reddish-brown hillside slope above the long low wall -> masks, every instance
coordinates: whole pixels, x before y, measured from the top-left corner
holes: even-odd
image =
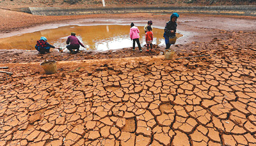
[[[218,5],[256,5],[256,0],[105,0],[106,6],[218,6]],[[34,7],[97,7],[101,0],[0,0],[0,8]]]

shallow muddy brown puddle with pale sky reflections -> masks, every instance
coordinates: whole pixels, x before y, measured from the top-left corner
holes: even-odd
[[[145,33],[143,26],[140,30],[140,43],[145,45]],[[129,36],[130,26],[108,25],[108,26],[63,26],[56,29],[45,29],[34,33],[20,34],[9,38],[0,39],[0,49],[21,49],[35,50],[36,41],[41,36],[45,36],[47,41],[55,47],[65,48],[67,51],[66,40],[70,32],[75,32],[77,38],[86,48],[81,50],[115,50],[118,48],[132,47],[132,41]],[[164,45],[163,29],[154,28],[153,44]],[[177,34],[181,37],[182,34]]]

